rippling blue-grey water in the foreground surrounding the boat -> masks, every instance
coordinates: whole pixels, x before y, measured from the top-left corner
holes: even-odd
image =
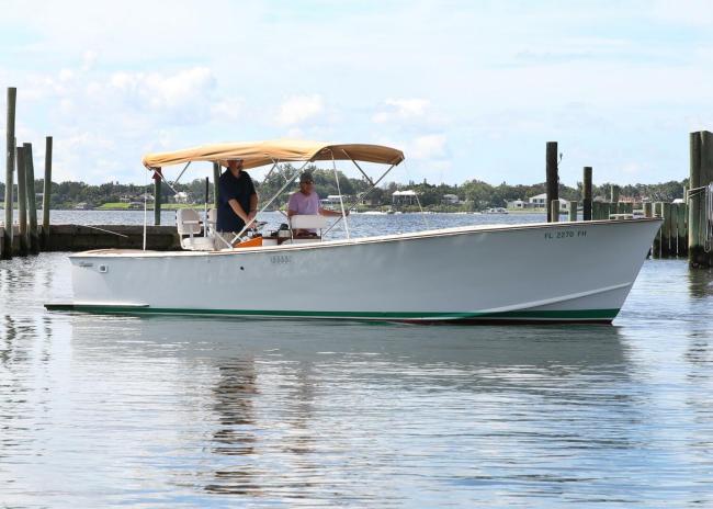
[[[0,262],[2,507],[713,506],[713,276],[683,261],[613,327],[42,307],[70,296],[63,253]]]

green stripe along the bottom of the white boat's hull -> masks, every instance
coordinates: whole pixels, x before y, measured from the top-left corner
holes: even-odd
[[[129,315],[202,315],[242,316],[262,318],[347,318],[361,320],[483,320],[483,321],[611,321],[619,309],[521,310],[501,313],[440,313],[440,312],[298,312],[254,309],[196,309],[136,306],[93,306],[88,304],[45,304],[48,310],[75,310],[98,314]]]

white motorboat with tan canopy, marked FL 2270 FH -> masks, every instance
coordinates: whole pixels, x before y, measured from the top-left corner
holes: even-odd
[[[145,165],[156,169],[241,158],[246,168],[254,168],[270,149],[268,162],[353,158],[393,167],[403,160],[398,150],[369,145],[278,142],[258,148],[199,147],[147,156]],[[47,308],[418,323],[611,323],[659,226],[660,219],[541,223],[302,244],[291,238],[281,245],[206,251],[87,251],[70,256],[73,301]]]

